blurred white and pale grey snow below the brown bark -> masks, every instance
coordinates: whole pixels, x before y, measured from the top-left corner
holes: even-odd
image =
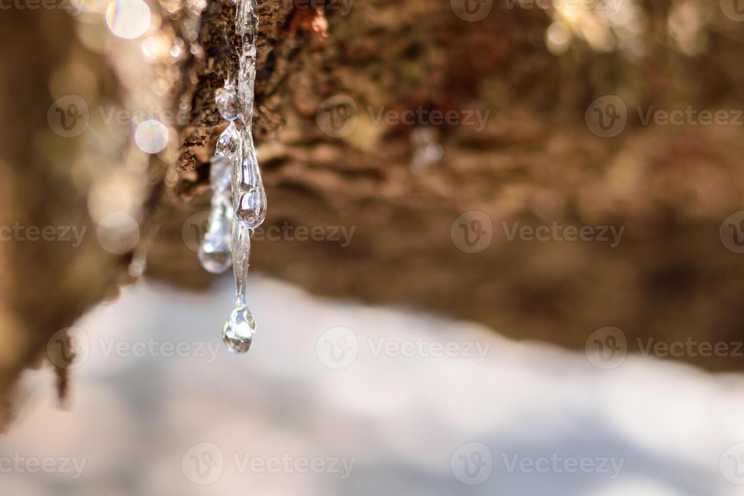
[[[472,323],[249,290],[242,356],[219,336],[230,277],[204,294],[139,283],[84,316],[68,408],[51,370],[25,376],[1,494],[744,494],[738,376],[600,370]]]

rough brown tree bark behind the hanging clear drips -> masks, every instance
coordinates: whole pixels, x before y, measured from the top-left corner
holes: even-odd
[[[346,12],[338,2],[315,9],[259,1],[254,120],[269,197],[265,227],[293,230],[276,241],[255,240],[251,270],[318,294],[434,309],[568,347],[582,348],[603,326],[623,329],[631,349],[637,337],[740,341],[744,255],[725,248],[719,226],[742,209],[742,127],[642,126],[635,106],[740,109],[741,23],[715,6],[700,7],[705,21],[690,36],[703,49],[695,54],[670,28],[676,4],[658,2],[642,10],[642,57],[597,51],[580,36],[557,56],[545,46],[557,14],[507,5],[494,2],[485,19],[466,22],[449,2],[356,0]],[[195,288],[212,280],[193,248],[206,219],[194,214],[208,206],[206,163],[223,126],[214,89],[235,63],[234,6],[210,12],[214,19],[202,22],[199,34],[204,57],[178,62],[183,80],[172,90],[173,106],[186,102],[196,117],[178,126],[182,146],[148,165],[150,187],[141,200],[145,244],[148,226],[163,221],[148,273]],[[154,14],[170,36],[179,33],[173,19],[183,16]],[[86,218],[89,184],[76,183],[68,167],[79,155],[77,142],[58,140],[45,122],[54,100],[49,81],[74,54],[93,72],[99,96],[121,87],[107,68],[111,61],[80,46],[75,23],[59,11],[14,11],[0,30],[7,52],[0,71],[4,225]],[[615,138],[597,137],[584,119],[603,94],[628,104],[628,126]],[[356,128],[333,137],[323,104],[339,95],[353,100]],[[420,126],[376,123],[381,107],[490,115],[481,131],[436,126],[443,157],[417,171],[411,162]],[[168,172],[173,168],[178,178]],[[156,208],[161,204],[164,210]],[[475,254],[461,251],[452,234],[455,219],[472,210],[485,213],[493,231],[490,245]],[[610,248],[600,241],[510,241],[502,225],[554,221],[625,229]],[[301,226],[354,231],[341,246],[300,241]],[[55,332],[131,280],[126,268],[135,252],[107,253],[92,233],[75,249],[0,244],[0,338],[7,344],[0,393],[7,396]],[[682,358],[711,369],[741,364],[730,356]]]

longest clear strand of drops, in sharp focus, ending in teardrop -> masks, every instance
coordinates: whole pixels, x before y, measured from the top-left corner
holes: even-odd
[[[235,274],[235,308],[222,327],[222,341],[228,349],[244,353],[251,347],[256,323],[246,302],[248,258],[251,254],[251,235],[266,217],[266,192],[258,170],[251,123],[253,117],[253,86],[256,78],[256,35],[258,10],[255,0],[237,0],[235,28],[241,37],[237,86],[230,81],[217,94],[217,108],[225,120],[240,119],[240,132],[234,122],[220,136],[218,153],[232,161],[232,257]],[[233,98],[234,96],[234,98]],[[237,114],[234,112],[237,106]],[[225,133],[228,133],[225,135]],[[236,133],[239,136],[236,136]],[[233,144],[237,144],[234,153]]]

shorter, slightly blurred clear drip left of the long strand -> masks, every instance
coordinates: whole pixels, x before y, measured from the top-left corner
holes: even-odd
[[[233,207],[230,161],[214,157],[209,176],[213,192],[212,209],[209,213],[209,227],[199,248],[199,262],[206,271],[222,274],[232,263],[230,245]]]

